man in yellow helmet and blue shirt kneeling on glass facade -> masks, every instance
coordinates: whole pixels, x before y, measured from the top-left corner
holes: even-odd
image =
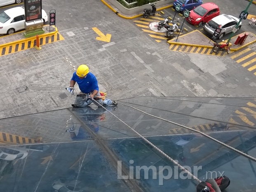
[[[76,96],[75,103],[72,104],[72,107],[85,107],[94,102],[94,96],[101,96],[99,93],[98,81],[92,73],[89,72],[87,65],[80,65],[76,72],[73,73],[73,77],[70,80],[70,89],[74,89],[75,83],[78,83],[80,94]],[[86,95],[90,94],[92,99],[88,101],[82,101]],[[97,102],[106,107],[108,105],[117,105],[117,101],[112,101],[111,99],[105,99],[104,101],[99,98]],[[94,102],[95,105],[101,107],[97,102]]]

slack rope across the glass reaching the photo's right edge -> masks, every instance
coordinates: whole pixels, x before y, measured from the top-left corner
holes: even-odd
[[[132,106],[130,106],[130,105],[126,105],[126,104],[123,104],[123,103],[122,103],[122,105],[125,105],[125,106],[130,107],[130,108],[134,108],[134,107],[132,107]],[[225,144],[225,143],[223,143],[223,142],[221,142],[221,141],[219,141],[219,140],[217,140],[217,139],[215,139],[215,138],[213,138],[213,137],[211,137],[211,136],[209,136],[209,135],[207,135],[207,134],[205,134],[205,133],[203,133],[203,132],[201,132],[201,131],[197,131],[196,129],[192,129],[192,128],[188,127],[188,126],[184,126],[184,125],[181,125],[181,124],[178,124],[178,123],[175,123],[175,122],[171,122],[171,121],[169,121],[169,120],[167,120],[167,119],[163,119],[163,118],[161,118],[161,117],[157,117],[157,116],[155,116],[155,115],[151,115],[151,114],[149,114],[149,113],[147,113],[147,112],[144,112],[144,111],[142,111],[142,110],[139,110],[139,109],[137,109],[137,108],[134,108],[134,109],[135,109],[135,110],[138,110],[138,111],[140,111],[140,112],[143,112],[143,113],[145,113],[145,114],[147,114],[147,115],[150,115],[150,116],[152,116],[152,117],[155,117],[155,118],[157,118],[157,119],[161,119],[161,120],[164,120],[164,121],[169,122],[169,123],[171,123],[171,124],[175,124],[175,125],[181,126],[181,127],[183,127],[183,128],[189,129],[189,130],[191,130],[191,131],[195,131],[195,132],[197,132],[197,133],[201,133],[203,136],[206,136],[206,137],[210,138],[211,140],[214,140],[214,141],[216,141],[217,143],[219,143],[219,144],[221,144],[221,145],[224,145],[225,147],[230,148],[231,150],[233,150],[233,151],[235,151],[235,152],[238,152],[238,153],[240,153],[241,155],[244,155],[245,157],[248,157],[249,159],[252,159],[252,160],[254,160],[254,161],[256,162],[256,158],[251,157],[250,155],[247,155],[246,153],[244,153],[244,152],[242,152],[242,151],[240,151],[240,150],[237,150],[237,149],[235,149],[235,148],[233,148],[233,147],[231,147],[231,146],[229,146],[229,145],[227,145],[227,144]]]

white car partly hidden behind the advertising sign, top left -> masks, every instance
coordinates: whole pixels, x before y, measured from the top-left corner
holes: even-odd
[[[42,9],[42,19],[48,21],[45,10]],[[17,30],[25,29],[24,7],[14,7],[0,13],[0,34],[12,34]]]

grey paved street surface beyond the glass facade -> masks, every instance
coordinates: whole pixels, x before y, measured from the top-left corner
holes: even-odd
[[[248,5],[247,1],[235,5],[232,0],[213,2],[221,12],[236,15],[242,9],[238,7]],[[101,91],[107,90],[108,97],[117,100],[134,96],[255,96],[254,73],[230,56],[170,51],[165,41],[156,42],[100,0],[42,3],[46,12],[56,9],[56,27],[65,40],[44,45],[40,51],[28,49],[1,56],[1,118],[70,107],[75,98],[64,87],[69,85],[73,68],[84,63],[98,78]],[[248,12],[256,15],[255,5]],[[244,23],[241,32],[250,28],[247,20]],[[92,28],[111,34],[110,42],[96,40]],[[256,46],[249,48],[255,51]]]

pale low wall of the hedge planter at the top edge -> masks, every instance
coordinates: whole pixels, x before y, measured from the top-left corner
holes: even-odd
[[[131,9],[127,9],[126,7],[124,7],[122,4],[120,4],[120,2],[118,2],[117,0],[108,0],[109,2],[111,2],[113,5],[115,5],[115,7],[120,11],[120,14],[126,14],[126,15],[132,15],[132,14],[142,14],[143,13],[143,9],[151,9],[152,7],[149,4],[146,5],[142,5],[140,7],[133,7]],[[156,7],[160,8],[162,5],[172,5],[174,2],[174,0],[160,0],[157,1]]]

